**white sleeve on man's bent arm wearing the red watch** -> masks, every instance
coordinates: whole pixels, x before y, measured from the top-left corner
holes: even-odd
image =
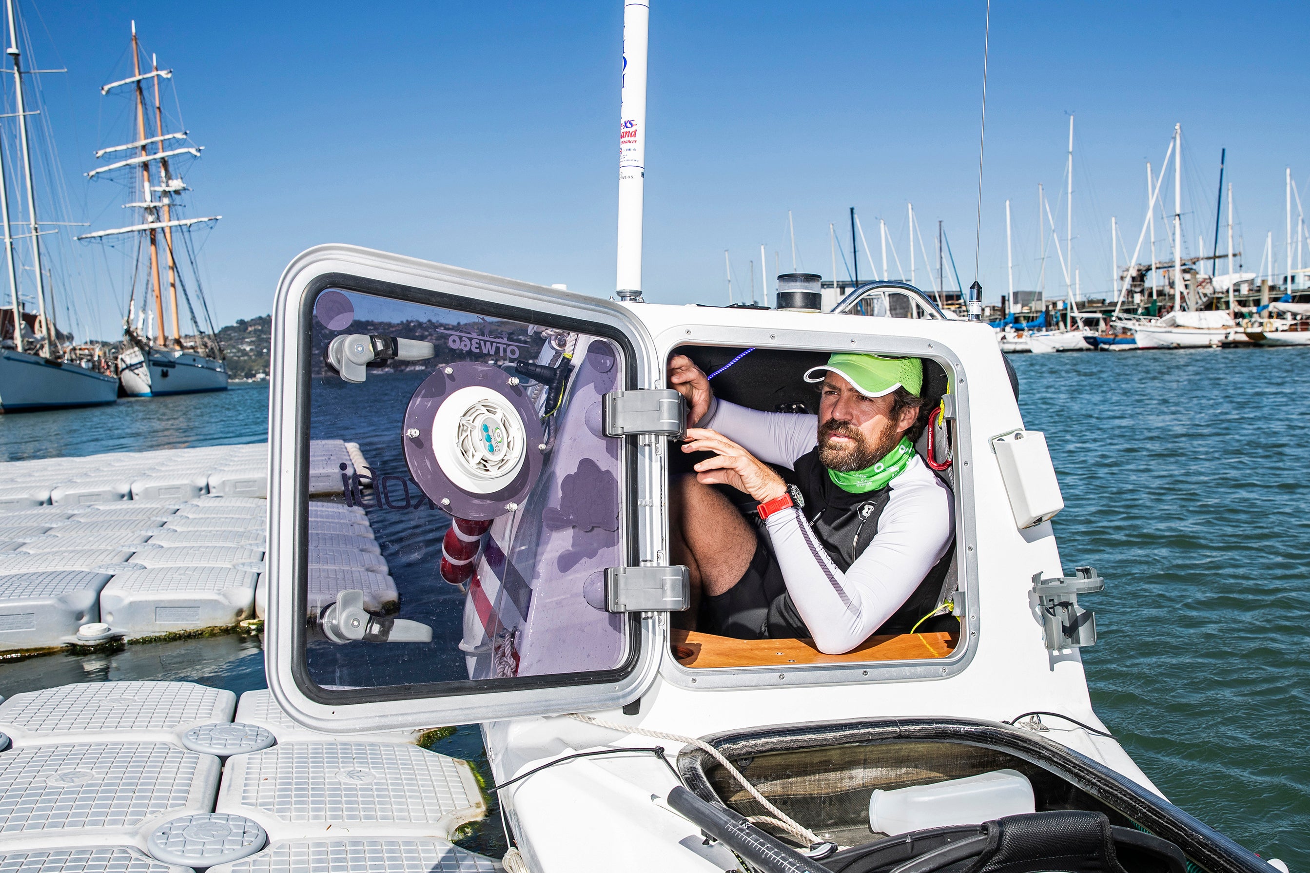
[[[802,510],[769,516],[765,526],[787,592],[820,652],[854,649],[909,599],[950,547],[951,512],[951,492],[916,458],[897,476],[874,541],[845,573]]]

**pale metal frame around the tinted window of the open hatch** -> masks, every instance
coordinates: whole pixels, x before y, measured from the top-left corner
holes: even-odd
[[[304,657],[309,327],[313,301],[328,288],[600,334],[624,349],[627,389],[650,387],[663,377],[650,332],[614,302],[356,246],[316,246],[297,255],[278,284],[270,366],[265,664],[278,704],[316,730],[362,732],[595,711],[638,699],[655,681],[663,657],[658,613],[630,618],[627,658],[604,673],[347,691],[309,679]],[[648,438],[625,441],[621,530],[629,565],[658,563],[664,550],[660,507],[633,499],[652,471],[662,469],[662,452]]]

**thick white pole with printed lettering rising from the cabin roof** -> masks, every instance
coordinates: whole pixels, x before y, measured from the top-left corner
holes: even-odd
[[[10,0],[12,1],[12,0]],[[618,124],[618,276],[622,300],[642,297],[642,203],[646,192],[647,3],[624,4],[624,73]]]

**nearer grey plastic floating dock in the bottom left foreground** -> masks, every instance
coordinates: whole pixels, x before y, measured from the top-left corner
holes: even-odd
[[[233,702],[190,682],[93,682],[5,700],[0,730],[14,747],[0,753],[0,870],[499,869],[449,842],[486,815],[466,762],[401,733],[316,734],[267,691],[242,695],[237,715],[275,728],[232,724]]]

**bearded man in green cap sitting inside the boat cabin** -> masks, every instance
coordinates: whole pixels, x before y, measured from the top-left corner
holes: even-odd
[[[920,359],[838,353],[804,380],[821,382],[817,416],[728,403],[689,357],[669,360],[696,425],[683,452],[714,453],[673,483],[673,560],[690,569],[696,630],[841,654],[938,606],[952,499],[914,452],[930,411]],[[748,493],[758,522],[714,486]]]

